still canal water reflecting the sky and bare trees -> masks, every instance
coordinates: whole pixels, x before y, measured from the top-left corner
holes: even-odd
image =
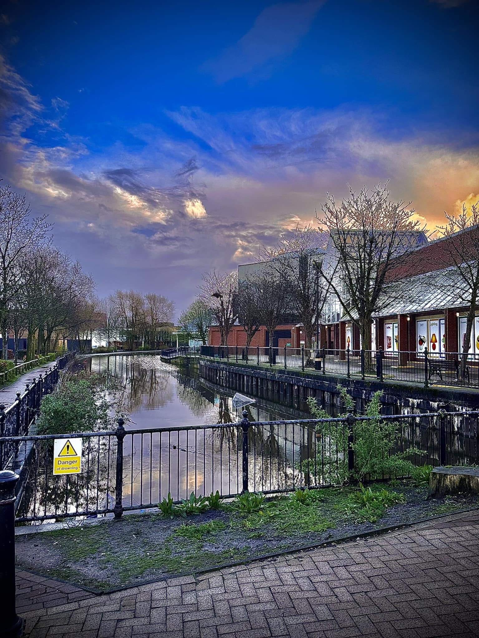
[[[116,395],[128,414],[126,431],[137,431],[127,434],[124,443],[125,507],[148,507],[168,493],[179,500],[192,492],[241,491],[241,428],[215,427],[241,420],[243,408],[233,406],[232,391],[213,387],[193,371],[180,371],[153,355],[103,355],[87,359],[87,366],[114,378]],[[298,468],[314,456],[314,429],[272,422],[307,419],[308,413],[252,401],[246,408],[248,419],[263,425],[252,426],[248,434],[249,488],[268,491],[302,482]],[[182,427],[188,429],[178,429]],[[151,432],[157,428],[161,431]]]

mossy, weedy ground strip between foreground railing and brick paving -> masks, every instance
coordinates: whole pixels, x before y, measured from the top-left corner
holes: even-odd
[[[36,572],[108,591],[479,505],[477,496],[426,500],[427,486],[411,481],[372,484],[371,492],[366,505],[358,502],[357,488],[344,487],[310,491],[305,503],[292,495],[264,500],[250,513],[230,502],[184,518],[128,514],[119,521],[82,521],[17,537],[17,561]],[[381,498],[390,504],[381,505]]]

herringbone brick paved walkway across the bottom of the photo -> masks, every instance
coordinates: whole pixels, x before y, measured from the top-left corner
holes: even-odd
[[[97,597],[17,584],[30,638],[479,636],[479,512]]]

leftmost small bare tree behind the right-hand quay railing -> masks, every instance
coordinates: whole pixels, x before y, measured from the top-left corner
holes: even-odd
[[[211,310],[213,319],[220,330],[221,345],[228,345],[228,336],[238,317],[238,274],[206,272],[199,286],[199,299]]]

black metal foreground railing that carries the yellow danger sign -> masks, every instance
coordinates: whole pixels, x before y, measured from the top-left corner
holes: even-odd
[[[354,473],[358,424],[370,417],[250,422],[188,427],[0,438],[0,445],[31,447],[27,480],[17,499],[17,521],[59,517],[120,517],[219,491],[284,493],[331,487]],[[384,416],[397,424],[391,452],[411,453],[417,465],[479,462],[479,411]],[[82,469],[53,475],[54,439],[82,438]],[[390,452],[390,453],[391,453]],[[0,469],[8,469],[8,463]]]

